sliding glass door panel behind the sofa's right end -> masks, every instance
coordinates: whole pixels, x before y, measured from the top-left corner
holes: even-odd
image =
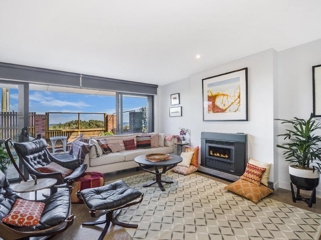
[[[153,96],[118,93],[118,134],[152,132]]]

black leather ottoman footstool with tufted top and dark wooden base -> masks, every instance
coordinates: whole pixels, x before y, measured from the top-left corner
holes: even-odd
[[[125,228],[137,228],[138,225],[119,222],[115,217],[119,214],[122,208],[141,203],[144,195],[144,193],[128,187],[123,180],[119,180],[99,188],[89,188],[78,191],[77,196],[79,199],[83,200],[85,205],[90,209],[89,212],[91,217],[99,218],[106,215],[106,220],[84,222],[82,223],[82,226],[93,226],[106,223],[106,226],[98,240],[102,240],[104,238],[110,222]]]

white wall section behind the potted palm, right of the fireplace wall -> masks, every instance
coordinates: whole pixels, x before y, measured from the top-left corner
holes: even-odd
[[[278,52],[278,118],[307,119],[312,112],[312,66],[321,64],[321,39]],[[285,126],[278,123],[279,133]],[[317,132],[317,134],[321,134]],[[283,142],[279,139],[280,143]],[[288,162],[279,151],[279,186],[290,189]],[[321,196],[321,185],[317,188]]]

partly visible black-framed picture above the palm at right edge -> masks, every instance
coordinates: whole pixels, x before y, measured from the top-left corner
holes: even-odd
[[[321,117],[321,65],[312,67],[313,116]]]

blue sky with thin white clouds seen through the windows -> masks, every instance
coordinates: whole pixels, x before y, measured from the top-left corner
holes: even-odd
[[[146,98],[123,98],[123,111],[137,111],[140,107],[146,105]],[[37,114],[44,114],[45,112],[113,114],[116,112],[115,108],[115,96],[36,90],[30,90],[29,92],[29,111]],[[18,89],[10,89],[10,111],[18,111]],[[124,113],[124,122],[129,122],[128,116],[128,113]],[[81,120],[103,120],[103,115],[81,114],[80,118]],[[49,124],[64,123],[76,119],[78,119],[77,114],[52,114],[50,115]]]

